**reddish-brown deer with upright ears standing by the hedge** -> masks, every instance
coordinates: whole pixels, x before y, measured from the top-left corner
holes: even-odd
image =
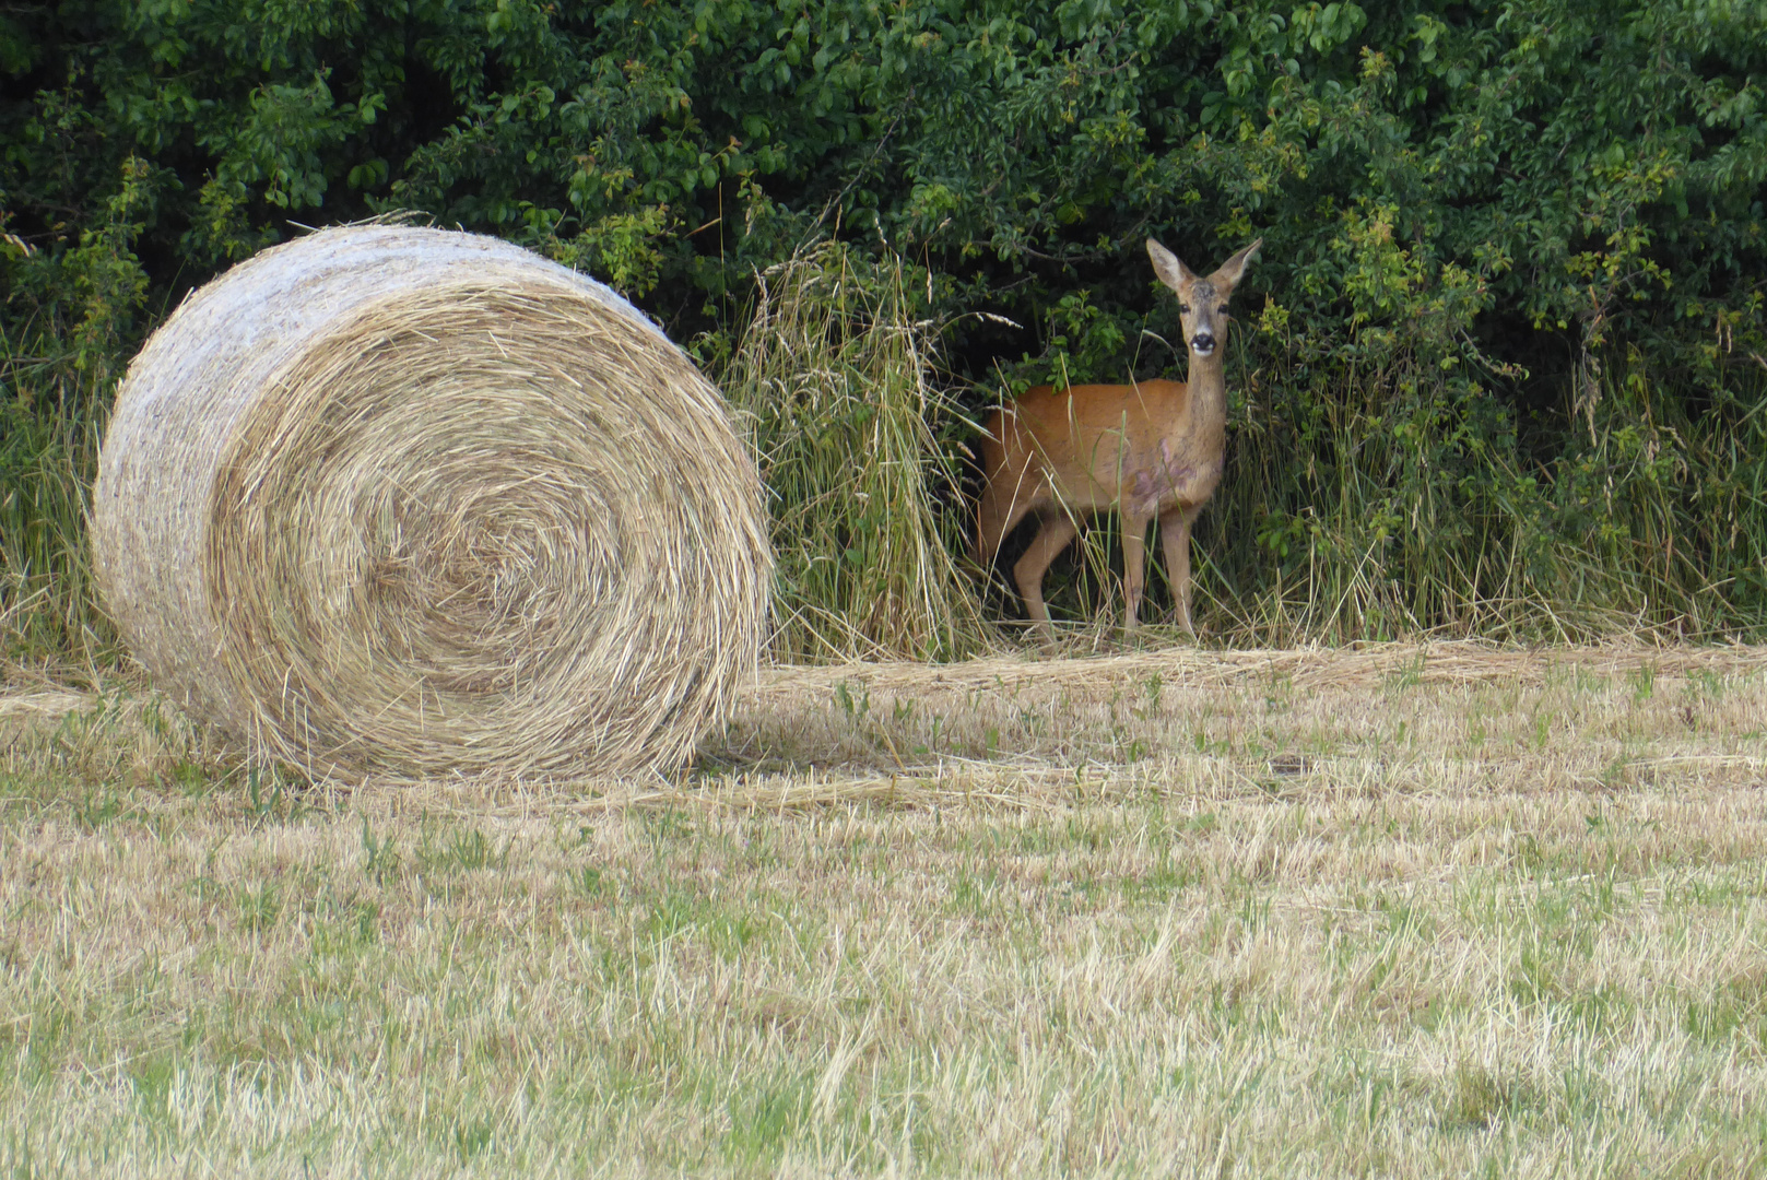
[[[982,493],[975,507],[975,562],[986,571],[1000,542],[1030,512],[1037,535],[1012,567],[1032,625],[1053,643],[1043,576],[1080,535],[1080,518],[1115,509],[1122,518],[1124,631],[1138,627],[1147,526],[1159,544],[1177,597],[1179,622],[1191,622],[1191,523],[1221,482],[1226,452],[1226,300],[1263,238],[1202,279],[1154,238],[1154,274],[1179,297],[1189,353],[1184,382],[1131,385],[1037,385],[988,419],[981,440]]]

